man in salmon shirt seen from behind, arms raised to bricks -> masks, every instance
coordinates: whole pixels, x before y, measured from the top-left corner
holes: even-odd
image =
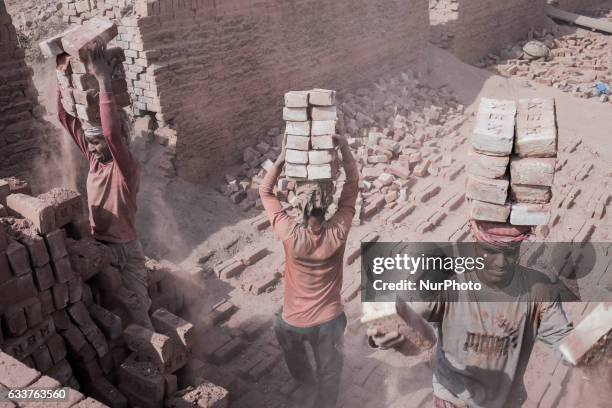
[[[346,328],[340,298],[342,267],[359,189],[359,170],[348,142],[340,136],[335,140],[346,181],[338,210],[327,221],[325,213],[333,198],[331,182],[305,182],[296,189],[302,219],[289,216],[274,195],[285,163],[285,143],[259,188],[272,228],[285,250],[283,309],[274,331],[291,375],[300,383],[316,385],[313,406],[318,408],[335,407],[338,399]],[[316,378],[305,343],[314,354]]]

